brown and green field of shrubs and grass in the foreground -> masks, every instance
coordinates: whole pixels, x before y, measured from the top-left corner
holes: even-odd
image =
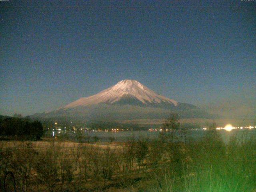
[[[170,118],[157,140],[123,145],[49,141],[0,142],[1,188],[6,191],[254,192],[255,130],[224,143],[209,126],[192,140]],[[224,131],[224,130],[223,130]],[[176,134],[180,132],[180,134]],[[180,135],[180,138],[177,138]],[[14,184],[15,180],[15,184]]]

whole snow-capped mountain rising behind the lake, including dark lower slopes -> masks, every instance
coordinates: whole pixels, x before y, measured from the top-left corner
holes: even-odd
[[[208,118],[210,114],[150,90],[136,80],[122,80],[101,92],[82,97],[58,110],[35,114],[42,118],[72,117],[86,120],[166,118],[171,112],[181,118]]]

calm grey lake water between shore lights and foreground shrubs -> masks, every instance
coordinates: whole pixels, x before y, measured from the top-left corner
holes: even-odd
[[[226,130],[217,130],[224,142],[230,140],[230,137],[237,136],[239,140],[247,140],[251,137],[256,138],[256,129],[244,129],[244,130],[232,130],[228,132]],[[199,139],[206,133],[206,130],[189,130],[187,138]],[[102,142],[109,142],[111,139],[117,142],[126,142],[128,138],[144,138],[147,140],[157,139],[160,131],[118,131],[118,132],[93,132],[93,131],[48,131],[46,132],[47,137],[57,138],[69,138],[71,140],[77,140],[78,136],[86,140],[90,138],[90,141],[94,141],[95,138]],[[181,136],[177,134],[177,136]]]

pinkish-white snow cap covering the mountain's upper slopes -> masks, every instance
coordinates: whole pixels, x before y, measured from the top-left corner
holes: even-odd
[[[157,105],[162,103],[171,104],[173,106],[178,105],[178,102],[175,100],[155,93],[136,80],[122,80],[116,85],[111,86],[110,88],[107,88],[98,94],[80,98],[60,109],[65,110],[68,108],[89,106],[100,103],[114,104],[125,99],[136,100],[145,106],[148,104]]]

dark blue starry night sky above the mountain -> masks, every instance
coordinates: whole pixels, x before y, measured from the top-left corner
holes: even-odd
[[[123,79],[256,108],[256,1],[0,2],[0,114],[55,110]]]

